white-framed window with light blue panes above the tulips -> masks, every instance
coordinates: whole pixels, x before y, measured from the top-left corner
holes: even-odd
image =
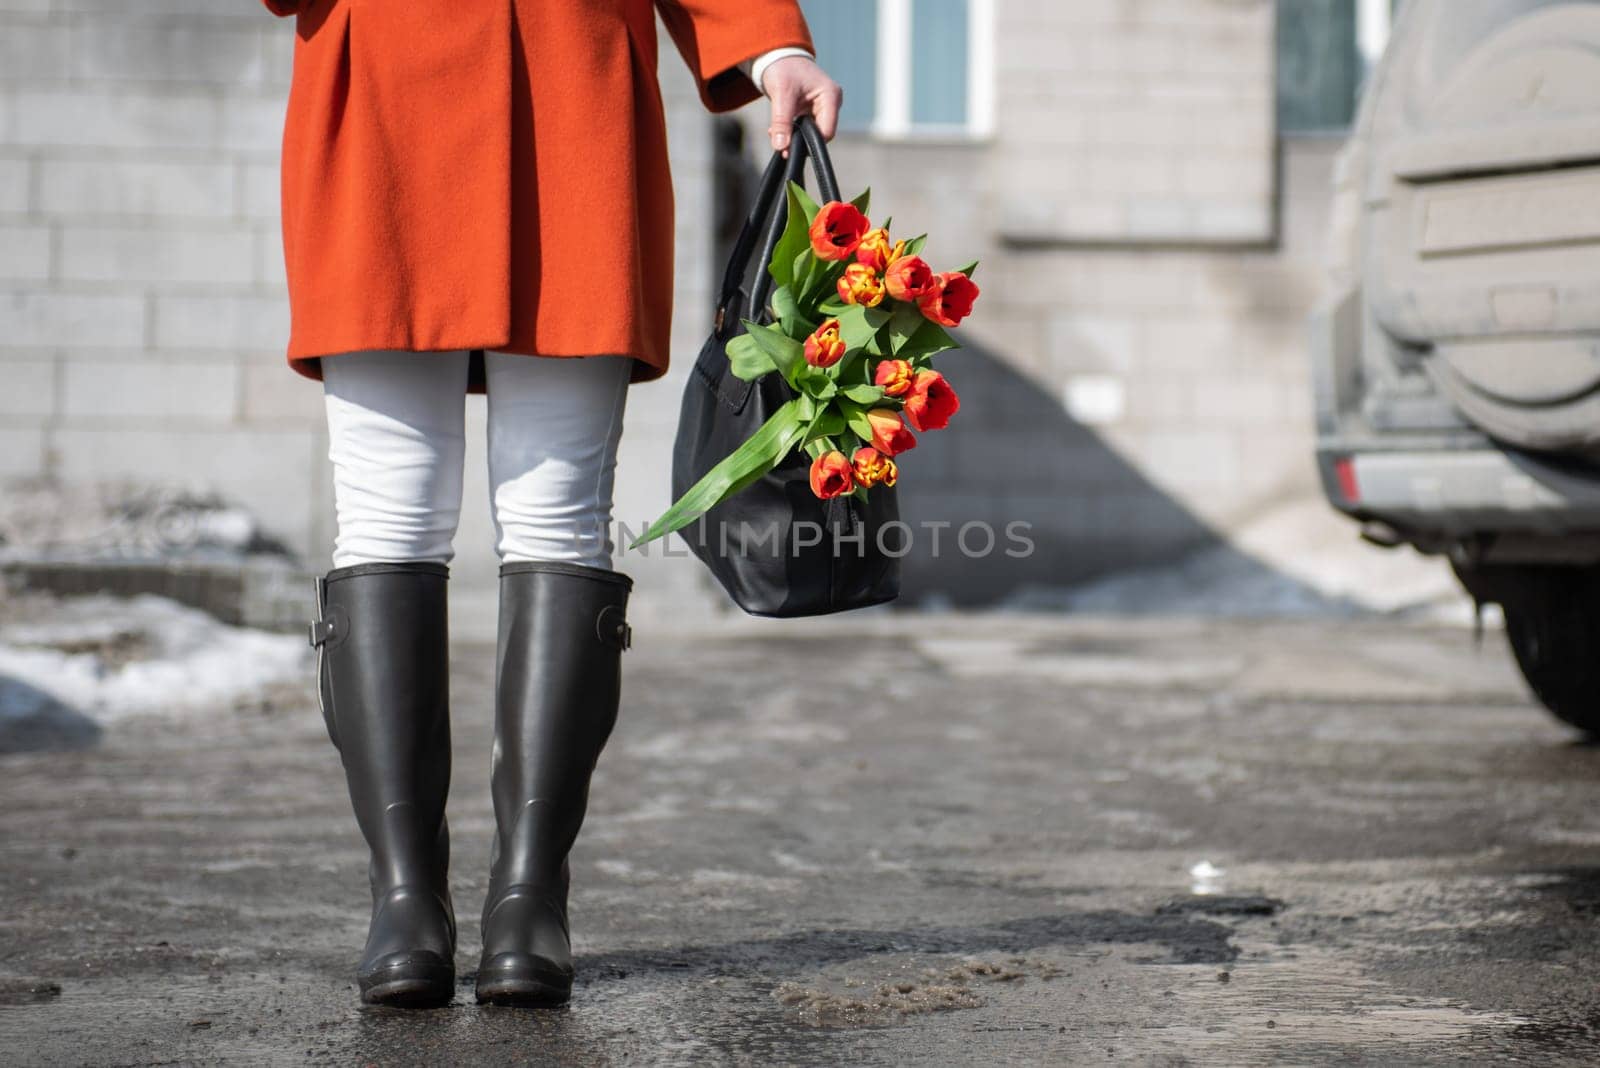
[[[984,136],[994,0],[802,0],[818,61],[845,86],[846,130]]]

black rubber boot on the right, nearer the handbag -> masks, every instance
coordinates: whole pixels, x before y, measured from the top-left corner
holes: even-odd
[[[566,854],[616,724],[627,595],[616,571],[501,566],[494,849],[478,1001],[555,1006],[573,993]]]

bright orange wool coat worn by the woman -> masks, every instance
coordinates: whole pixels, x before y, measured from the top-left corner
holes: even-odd
[[[797,0],[262,0],[298,16],[283,125],[288,360],[626,353],[667,369],[672,176],[656,8],[714,112],[811,48]],[[474,360],[472,392],[483,390]]]

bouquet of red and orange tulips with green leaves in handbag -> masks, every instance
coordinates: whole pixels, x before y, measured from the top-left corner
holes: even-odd
[[[728,342],[744,381],[781,374],[795,397],[672,504],[634,545],[682,529],[778,467],[811,457],[811,491],[864,497],[893,486],[914,432],[941,430],[960,400],[930,363],[973,310],[978,264],[934,272],[926,235],[896,241],[867,219],[869,192],[818,205],[789,184],[789,217],[768,270],[771,325],[744,320]],[[909,425],[907,425],[909,424]]]

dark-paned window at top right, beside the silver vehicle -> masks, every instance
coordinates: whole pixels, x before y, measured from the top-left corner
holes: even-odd
[[[1342,133],[1402,0],[1278,0],[1278,130]]]

